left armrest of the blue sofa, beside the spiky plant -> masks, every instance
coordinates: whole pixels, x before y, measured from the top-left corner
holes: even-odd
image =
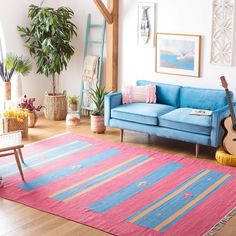
[[[110,118],[111,118],[111,109],[121,105],[122,103],[122,93],[110,93],[105,96],[105,104],[104,104],[104,121],[105,125],[110,125]]]

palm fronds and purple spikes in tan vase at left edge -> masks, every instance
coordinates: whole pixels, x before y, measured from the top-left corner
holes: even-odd
[[[31,70],[31,63],[29,59],[23,56],[14,54],[7,54],[6,59],[2,58],[0,61],[0,77],[3,82],[3,99],[11,100],[11,80],[14,73],[20,75],[27,75]]]

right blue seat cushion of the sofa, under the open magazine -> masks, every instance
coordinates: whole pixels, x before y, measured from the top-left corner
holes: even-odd
[[[166,128],[210,135],[211,116],[190,115],[191,108],[178,108],[159,117],[159,125]]]

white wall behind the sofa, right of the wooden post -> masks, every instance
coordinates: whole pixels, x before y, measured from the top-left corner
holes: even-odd
[[[225,75],[230,89],[236,95],[236,67],[216,66],[209,63],[212,0],[155,1],[157,2],[157,32],[202,35],[200,78],[155,73],[155,50],[153,48],[140,48],[137,45],[137,3],[139,1],[121,2],[120,86],[134,84],[137,79],[147,79],[193,87],[221,88],[219,77]],[[236,43],[234,52],[235,59]]]

